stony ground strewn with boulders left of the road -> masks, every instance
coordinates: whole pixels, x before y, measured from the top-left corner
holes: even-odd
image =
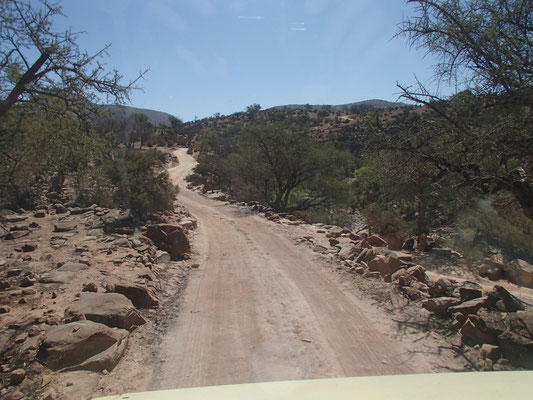
[[[138,387],[193,266],[196,222],[185,209],[136,227],[126,212],[64,205],[54,195],[36,211],[0,211],[6,400]]]

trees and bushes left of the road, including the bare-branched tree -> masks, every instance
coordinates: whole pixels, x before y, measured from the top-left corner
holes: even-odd
[[[102,64],[108,46],[88,54],[79,34],[55,31],[57,2],[3,1],[0,10],[0,207],[33,209],[66,190],[78,205],[128,208],[139,219],[171,209],[167,155],[140,150],[180,143],[181,121],[154,126],[101,107],[124,104],[144,73],[123,83]]]

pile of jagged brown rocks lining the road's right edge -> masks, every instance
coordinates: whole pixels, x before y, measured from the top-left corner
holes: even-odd
[[[533,367],[533,312],[503,286],[496,285],[486,292],[476,282],[444,278],[432,281],[426,269],[413,261],[412,243],[398,237],[384,240],[333,227],[322,232],[328,238],[329,249],[313,244],[312,237],[303,240],[308,240],[317,252],[333,254],[349,271],[390,282],[407,302],[450,321],[450,329],[459,333],[465,346],[483,349],[484,369],[497,369],[499,360],[507,359],[520,367]],[[437,252],[443,257],[454,256],[450,249]],[[526,269],[524,263],[522,268]]]

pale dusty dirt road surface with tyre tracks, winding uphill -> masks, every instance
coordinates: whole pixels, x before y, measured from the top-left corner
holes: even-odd
[[[316,253],[260,216],[187,190],[195,161],[185,151],[169,172],[198,219],[200,267],[162,344],[153,389],[429,372]]]

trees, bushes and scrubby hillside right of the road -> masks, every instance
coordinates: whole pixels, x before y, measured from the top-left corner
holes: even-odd
[[[442,97],[398,84],[404,107],[305,105],[188,125],[190,180],[236,200],[382,234],[438,233],[462,251],[531,259],[533,6],[522,0],[412,0],[398,37],[439,60]],[[341,217],[342,215],[342,217]]]

